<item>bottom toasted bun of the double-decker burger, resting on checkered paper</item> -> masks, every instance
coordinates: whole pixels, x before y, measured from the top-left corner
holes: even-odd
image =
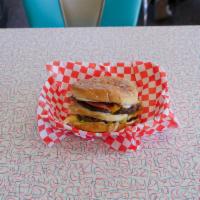
[[[69,115],[64,122],[77,129],[96,133],[119,131],[128,125],[127,123],[119,122],[81,122],[76,115]]]

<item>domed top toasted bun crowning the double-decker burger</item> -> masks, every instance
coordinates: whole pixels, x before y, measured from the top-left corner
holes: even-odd
[[[133,82],[117,77],[93,77],[72,85],[72,95],[82,101],[112,102],[133,105],[138,92]]]

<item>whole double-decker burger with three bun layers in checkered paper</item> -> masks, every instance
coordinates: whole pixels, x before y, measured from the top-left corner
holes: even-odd
[[[133,124],[141,111],[136,86],[122,78],[79,80],[71,94],[65,123],[84,131],[119,131]]]

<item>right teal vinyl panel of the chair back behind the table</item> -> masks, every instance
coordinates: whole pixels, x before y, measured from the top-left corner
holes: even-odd
[[[100,26],[136,26],[142,0],[105,0]]]

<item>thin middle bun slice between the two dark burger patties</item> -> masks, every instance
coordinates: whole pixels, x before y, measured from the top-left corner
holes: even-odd
[[[112,115],[110,113],[91,111],[91,110],[81,106],[78,103],[69,105],[69,111],[71,114],[93,117],[93,118],[108,121],[108,122],[122,121],[122,120],[127,120],[127,118],[128,118],[127,114]]]

